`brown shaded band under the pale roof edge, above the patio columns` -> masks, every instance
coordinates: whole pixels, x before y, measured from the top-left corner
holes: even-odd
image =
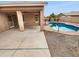
[[[2,7],[0,8],[1,12],[15,12],[17,10],[20,10],[22,12],[39,12],[42,10],[42,6],[30,6],[30,7]]]

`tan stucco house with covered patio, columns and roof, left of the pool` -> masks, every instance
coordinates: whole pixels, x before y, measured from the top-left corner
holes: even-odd
[[[27,26],[44,27],[44,6],[47,2],[12,2],[0,4],[0,32],[10,28],[24,31]]]

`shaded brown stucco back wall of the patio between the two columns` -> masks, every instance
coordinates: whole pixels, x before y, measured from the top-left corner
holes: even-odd
[[[24,13],[24,26],[35,26],[35,13]]]

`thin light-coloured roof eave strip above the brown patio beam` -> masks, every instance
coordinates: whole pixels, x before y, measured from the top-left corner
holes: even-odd
[[[15,7],[15,6],[44,6],[47,5],[47,2],[42,3],[10,3],[10,4],[1,4],[0,7]]]

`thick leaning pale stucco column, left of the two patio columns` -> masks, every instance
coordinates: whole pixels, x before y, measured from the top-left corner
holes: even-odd
[[[20,31],[24,30],[24,22],[21,11],[16,11]]]

